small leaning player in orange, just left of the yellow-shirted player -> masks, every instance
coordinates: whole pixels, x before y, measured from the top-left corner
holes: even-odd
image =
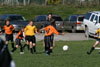
[[[24,38],[23,33],[24,33],[24,28],[22,27],[21,30],[18,32],[18,34],[16,36],[16,40],[15,40],[16,47],[13,48],[11,53],[13,53],[20,46],[20,54],[24,54],[22,44],[21,44],[21,40],[23,40],[23,38]]]

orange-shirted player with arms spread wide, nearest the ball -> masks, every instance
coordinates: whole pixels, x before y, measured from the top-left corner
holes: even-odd
[[[57,35],[63,35],[64,33],[59,33],[53,26],[54,21],[51,22],[51,25],[47,25],[45,28],[41,29],[39,32],[42,30],[45,30],[45,37],[44,37],[44,43],[45,43],[45,50],[46,50],[46,55],[50,55],[51,53],[51,47],[53,46],[53,40],[52,40],[52,35],[57,34]]]

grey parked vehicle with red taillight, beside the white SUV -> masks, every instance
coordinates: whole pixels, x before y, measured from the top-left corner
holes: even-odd
[[[83,29],[83,19],[84,15],[71,15],[64,20],[64,29],[72,30],[72,32],[76,32],[77,30]]]

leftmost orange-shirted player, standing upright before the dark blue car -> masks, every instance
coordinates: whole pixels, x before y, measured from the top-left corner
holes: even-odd
[[[9,20],[5,21],[5,25],[3,27],[5,31],[5,38],[6,38],[6,45],[8,45],[8,42],[11,41],[12,48],[14,48],[14,42],[13,42],[13,31],[15,30],[14,27],[10,24]]]

